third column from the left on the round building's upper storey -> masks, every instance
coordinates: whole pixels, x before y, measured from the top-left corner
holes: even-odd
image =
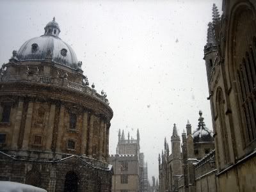
[[[55,118],[55,104],[51,104],[49,120],[47,122],[47,130],[46,130],[46,144],[45,144],[46,150],[51,150],[54,118]]]

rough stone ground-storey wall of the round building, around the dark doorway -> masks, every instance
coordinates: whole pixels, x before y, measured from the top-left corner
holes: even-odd
[[[48,192],[63,191],[68,172],[77,175],[77,191],[111,191],[113,170],[97,167],[81,157],[71,156],[58,161],[15,159],[0,153],[0,180],[31,184]],[[106,163],[105,163],[106,164]]]

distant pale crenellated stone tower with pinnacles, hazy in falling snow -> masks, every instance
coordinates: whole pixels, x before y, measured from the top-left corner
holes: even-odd
[[[116,192],[143,192],[148,190],[147,166],[144,154],[140,152],[140,133],[137,130],[137,139],[125,139],[124,130],[119,129],[116,154],[108,158],[113,165],[112,191]]]

